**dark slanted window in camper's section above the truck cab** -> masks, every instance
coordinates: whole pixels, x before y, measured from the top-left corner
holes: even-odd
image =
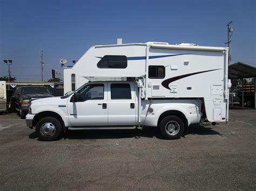
[[[127,57],[119,55],[105,55],[98,63],[98,68],[126,68]]]

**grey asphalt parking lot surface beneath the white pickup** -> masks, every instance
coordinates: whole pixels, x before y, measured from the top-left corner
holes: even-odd
[[[256,110],[193,125],[164,140],[157,129],[68,131],[41,142],[25,120],[0,115],[0,190],[255,190]]]

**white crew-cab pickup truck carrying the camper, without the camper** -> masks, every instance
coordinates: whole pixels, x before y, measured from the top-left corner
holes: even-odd
[[[136,82],[89,82],[63,97],[31,101],[26,125],[36,127],[41,140],[56,140],[66,129],[135,129],[140,125],[158,127],[164,138],[178,139],[188,125],[200,122],[202,103],[171,98],[140,102]]]

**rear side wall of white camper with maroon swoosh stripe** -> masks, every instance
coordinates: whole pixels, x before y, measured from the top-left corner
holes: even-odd
[[[146,97],[201,97],[208,121],[225,121],[226,62],[222,51],[150,48],[149,54],[149,66],[164,66],[165,76],[152,79],[147,75]]]

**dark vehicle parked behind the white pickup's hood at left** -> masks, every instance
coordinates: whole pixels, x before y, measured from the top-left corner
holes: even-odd
[[[16,88],[14,95],[11,97],[11,107],[19,111],[22,119],[28,114],[29,100],[53,97],[50,90],[44,86],[22,86]]]

